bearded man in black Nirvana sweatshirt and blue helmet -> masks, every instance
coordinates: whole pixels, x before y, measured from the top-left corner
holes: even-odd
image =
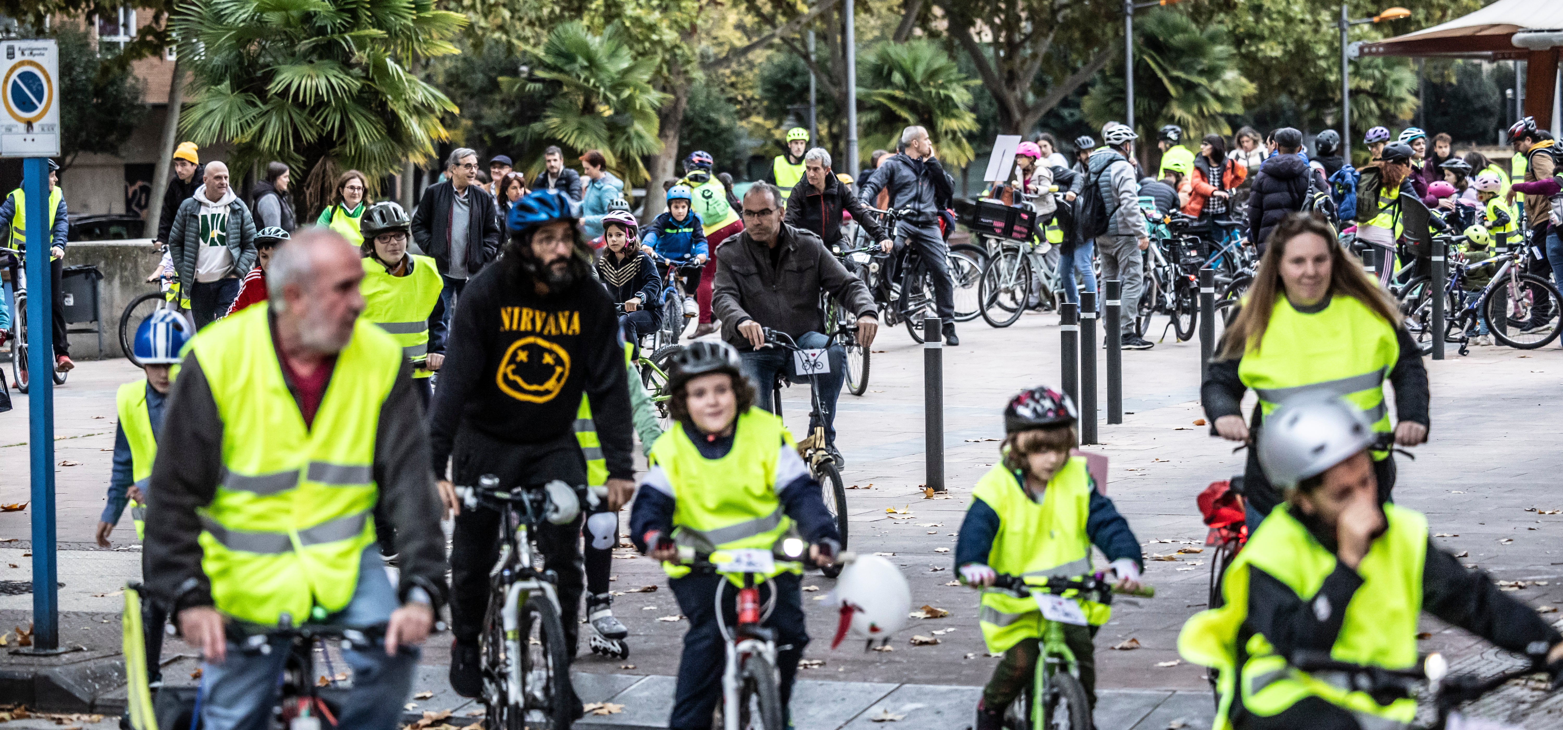
[[[608,508],[617,511],[635,489],[619,319],[591,275],[575,208],[561,192],[533,191],[511,206],[506,224],[503,256],[472,277],[450,320],[430,419],[439,496],[456,514],[450,686],[463,697],[483,691],[478,636],[499,555],[499,513],[463,511],[453,483],[474,485],[492,474],[505,486],[586,485],[586,458],[574,433],[585,394],[608,471]],[[538,535],[549,569],[558,574],[560,621],[572,657],[585,588],[580,530],[577,517],[545,524]]]

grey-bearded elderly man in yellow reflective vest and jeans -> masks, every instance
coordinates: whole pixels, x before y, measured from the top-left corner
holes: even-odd
[[[347,650],[339,727],[402,719],[420,644],[445,597],[444,536],[413,366],[359,317],[364,267],[341,234],[278,247],[267,306],[197,336],[159,435],[147,575],[202,649],[202,727],[264,724],[286,660],[233,639],[278,627],[384,627]],[[375,505],[395,524],[399,585],[375,549]]]

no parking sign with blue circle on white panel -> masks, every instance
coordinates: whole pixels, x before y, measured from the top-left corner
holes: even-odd
[[[0,41],[0,156],[59,155],[59,48]]]

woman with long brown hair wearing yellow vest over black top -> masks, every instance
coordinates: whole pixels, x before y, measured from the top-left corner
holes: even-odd
[[[1221,438],[1250,446],[1264,417],[1293,399],[1346,397],[1368,413],[1374,430],[1391,433],[1383,381],[1394,385],[1394,444],[1427,441],[1427,370],[1422,350],[1400,324],[1393,299],[1363,274],[1361,261],[1335,242],[1316,214],[1286,216],[1271,233],[1254,286],[1211,358],[1200,402]],[[1243,395],[1258,394],[1249,422]],[[1379,502],[1390,500],[1394,458],[1390,442],[1372,452]],[[1255,450],[1249,449],[1243,494],[1249,531],[1280,503]]]

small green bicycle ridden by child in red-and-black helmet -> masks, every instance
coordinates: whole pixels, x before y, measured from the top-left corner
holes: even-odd
[[[1094,594],[1091,600],[1111,603],[1114,592],[1124,592],[1102,580],[1102,574],[1080,575],[1074,578],[1027,578],[1024,575],[999,575],[993,588],[1010,591],[1019,597],[1030,597],[1032,591],[1047,594],[1063,594],[1078,591],[1082,596]],[[1153,597],[1157,589],[1141,586],[1127,592],[1143,599]],[[1069,602],[1074,605],[1074,602]],[[1005,730],[1091,730],[1091,699],[1080,683],[1080,667],[1075,655],[1064,644],[1064,625],[1058,621],[1047,621],[1047,628],[1041,636],[1041,655],[1038,657],[1033,683],[1022,689],[1021,696],[1010,703],[1003,713]]]

